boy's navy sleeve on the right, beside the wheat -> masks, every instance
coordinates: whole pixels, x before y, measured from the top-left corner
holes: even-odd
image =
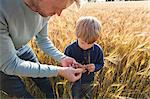
[[[99,71],[104,66],[104,54],[101,48],[98,51],[98,58],[94,65],[95,65],[95,72]]]

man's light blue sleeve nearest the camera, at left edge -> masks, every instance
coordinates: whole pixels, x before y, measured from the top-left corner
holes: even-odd
[[[9,75],[27,77],[53,77],[58,75],[56,66],[24,61],[17,56],[8,24],[0,11],[0,71]]]

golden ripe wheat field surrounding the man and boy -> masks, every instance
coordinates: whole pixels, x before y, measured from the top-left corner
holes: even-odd
[[[102,23],[97,41],[104,50],[105,65],[93,83],[95,99],[150,98],[150,2],[87,3],[75,5],[61,16],[49,20],[48,33],[54,45],[64,51],[73,42],[75,25],[80,16],[95,16]],[[59,65],[45,55],[34,39],[30,45],[41,63]],[[71,99],[71,83],[57,77],[50,78],[57,98]],[[27,89],[37,98],[44,94],[27,78]]]

